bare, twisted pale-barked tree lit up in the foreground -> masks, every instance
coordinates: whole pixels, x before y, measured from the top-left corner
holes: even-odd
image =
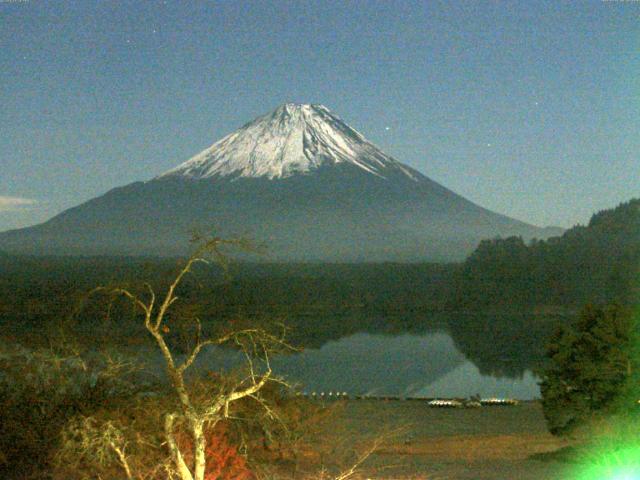
[[[205,477],[207,458],[205,455],[207,437],[205,430],[213,428],[220,420],[228,417],[229,405],[244,398],[252,398],[259,402],[267,413],[273,415],[269,405],[259,396],[260,390],[272,381],[280,381],[274,377],[270,355],[282,348],[290,348],[284,340],[284,329],[280,335],[273,335],[259,328],[245,328],[232,331],[215,338],[203,339],[200,321],[196,319],[196,340],[190,351],[183,359],[172,351],[166,334],[168,312],[178,301],[176,290],[198,263],[209,264],[211,261],[227,266],[226,256],[221,251],[226,246],[245,247],[241,240],[225,240],[212,238],[200,241],[200,246],[181,267],[172,283],[162,295],[157,295],[150,284],[146,283],[146,294],[139,295],[127,288],[99,287],[95,291],[103,291],[114,296],[124,296],[142,312],[144,326],[160,349],[167,375],[173,391],[177,397],[177,409],[164,415],[164,438],[168,447],[172,470],[180,480],[203,480]],[[221,382],[216,394],[203,399],[196,396],[189,388],[185,375],[193,366],[198,355],[205,347],[232,345],[239,348],[245,356],[248,373],[246,376],[232,382]],[[176,424],[179,422],[188,432],[193,450],[189,455],[183,451],[176,437]],[[114,442],[108,442],[116,454],[120,465],[125,470],[127,478],[132,478],[131,469],[126,463],[123,449],[113,447]],[[125,459],[123,461],[123,459]]]

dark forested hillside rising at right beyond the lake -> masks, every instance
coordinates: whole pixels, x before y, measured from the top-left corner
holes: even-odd
[[[464,262],[449,306],[580,307],[637,299],[640,199],[603,210],[560,237],[485,240]]]

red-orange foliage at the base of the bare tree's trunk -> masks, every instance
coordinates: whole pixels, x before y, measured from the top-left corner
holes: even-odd
[[[247,460],[229,440],[224,424],[218,424],[216,428],[207,431],[205,435],[207,438],[205,480],[255,480],[255,475],[249,469]],[[190,464],[193,461],[191,436],[185,432],[178,432],[176,443],[183,453],[185,461]]]

